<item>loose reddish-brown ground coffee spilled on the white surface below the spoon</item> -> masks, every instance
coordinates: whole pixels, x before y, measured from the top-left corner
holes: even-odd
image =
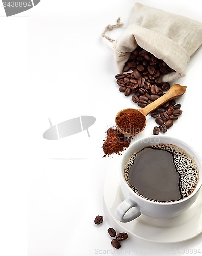
[[[103,157],[113,153],[121,154],[121,151],[127,148],[131,143],[131,137],[125,137],[124,134],[120,133],[115,127],[109,128],[106,133],[106,139],[102,146],[105,153]]]

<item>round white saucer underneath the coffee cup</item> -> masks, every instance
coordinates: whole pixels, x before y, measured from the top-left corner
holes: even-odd
[[[117,206],[125,199],[119,184],[119,163],[109,170],[104,183],[105,210],[121,229],[135,237],[158,243],[175,243],[189,240],[202,233],[202,190],[195,203],[181,215],[154,219],[144,215],[121,223],[115,217]]]

